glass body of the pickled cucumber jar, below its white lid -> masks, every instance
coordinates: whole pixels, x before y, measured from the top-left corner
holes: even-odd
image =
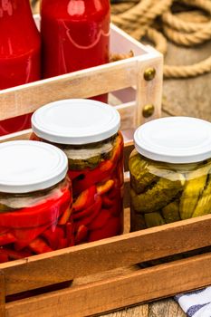
[[[172,164],[129,158],[131,231],[211,212],[211,160]]]

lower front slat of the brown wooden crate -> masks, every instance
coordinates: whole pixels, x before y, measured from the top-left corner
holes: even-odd
[[[7,317],[82,317],[211,283],[211,254],[6,304]]]

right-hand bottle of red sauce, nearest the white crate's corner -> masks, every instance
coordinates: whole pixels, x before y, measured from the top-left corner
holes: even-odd
[[[44,78],[109,62],[110,0],[43,0],[41,16]]]

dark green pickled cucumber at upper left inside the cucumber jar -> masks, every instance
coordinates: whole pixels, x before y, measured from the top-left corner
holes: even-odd
[[[158,176],[149,173],[149,164],[140,155],[129,159],[130,183],[136,193],[142,193],[146,187],[158,180]]]

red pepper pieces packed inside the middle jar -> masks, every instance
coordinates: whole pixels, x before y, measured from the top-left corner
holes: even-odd
[[[110,157],[98,158],[94,168],[74,170],[72,178],[75,243],[95,241],[119,235],[122,227],[123,140],[120,134],[113,143]],[[84,162],[84,167],[87,167]],[[82,164],[83,165],[83,164]],[[111,227],[110,227],[111,226]]]

